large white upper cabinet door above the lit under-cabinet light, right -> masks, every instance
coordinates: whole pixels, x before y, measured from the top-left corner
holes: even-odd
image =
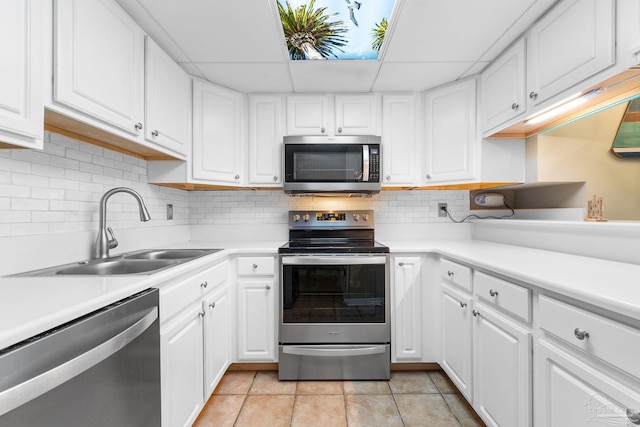
[[[530,105],[539,105],[615,63],[614,12],[614,0],[564,0],[531,27]]]

